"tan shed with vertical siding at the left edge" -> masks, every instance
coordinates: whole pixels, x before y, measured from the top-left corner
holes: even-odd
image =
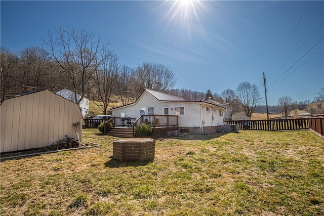
[[[78,105],[49,90],[6,99],[0,109],[1,153],[46,147],[65,135],[77,139],[75,131],[82,141]]]

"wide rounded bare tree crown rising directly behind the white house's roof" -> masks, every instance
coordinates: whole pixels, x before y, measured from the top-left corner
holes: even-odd
[[[135,70],[137,93],[145,89],[166,92],[174,87],[177,79],[167,66],[157,63],[143,63]]]

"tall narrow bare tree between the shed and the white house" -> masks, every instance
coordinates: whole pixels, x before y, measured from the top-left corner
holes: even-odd
[[[118,67],[117,55],[110,51],[103,52],[102,62],[95,73],[97,87],[96,98],[99,98],[99,101],[93,100],[93,102],[103,111],[104,115],[107,114],[110,98],[116,86]]]

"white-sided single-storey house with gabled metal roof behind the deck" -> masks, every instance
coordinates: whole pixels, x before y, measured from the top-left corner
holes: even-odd
[[[132,104],[111,109],[114,117],[138,118],[141,115],[178,115],[179,129],[192,134],[216,133],[224,124],[225,108],[207,101],[183,98],[146,89]]]

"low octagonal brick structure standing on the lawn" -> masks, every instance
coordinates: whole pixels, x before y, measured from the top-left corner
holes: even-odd
[[[155,140],[151,138],[117,140],[112,144],[112,157],[120,161],[154,160]]]

